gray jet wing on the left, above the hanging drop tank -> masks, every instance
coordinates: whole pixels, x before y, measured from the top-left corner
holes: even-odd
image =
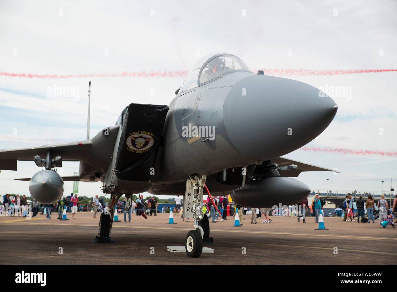
[[[91,144],[91,140],[84,140],[32,148],[2,149],[0,150],[0,169],[17,170],[17,160],[33,160],[35,155],[45,158],[48,150],[52,150],[53,157],[62,156],[62,161],[80,161],[87,155]]]

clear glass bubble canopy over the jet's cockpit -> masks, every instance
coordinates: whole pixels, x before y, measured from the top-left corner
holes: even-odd
[[[181,92],[203,85],[231,71],[249,71],[247,65],[236,56],[227,53],[215,53],[204,56],[183,81]]]

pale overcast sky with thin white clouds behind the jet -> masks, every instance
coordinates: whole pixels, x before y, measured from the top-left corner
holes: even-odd
[[[114,125],[129,103],[169,104],[183,77],[23,78],[28,74],[118,74],[190,71],[211,52],[239,56],[252,69],[397,69],[397,2],[390,1],[5,1],[0,0],[0,149],[85,140],[91,88],[91,137]],[[395,180],[397,72],[288,78],[328,92],[339,109],[308,150],[286,157],[337,167],[303,173],[312,190],[380,194]],[[48,96],[73,86],[77,98]],[[346,87],[345,87],[346,86]],[[351,94],[350,94],[350,93]],[[342,148],[390,155],[315,152]],[[64,162],[63,175],[79,164]],[[28,194],[39,168],[19,161],[1,171],[0,194]],[[80,195],[100,194],[100,183],[80,183]],[[70,193],[72,183],[65,183]]]

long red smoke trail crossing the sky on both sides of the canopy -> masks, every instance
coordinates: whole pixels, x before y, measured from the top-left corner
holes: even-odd
[[[266,75],[276,76],[324,76],[324,75],[346,75],[361,73],[380,73],[393,72],[397,69],[362,69],[362,70],[312,70],[312,69],[261,69]],[[257,72],[258,70],[254,70]],[[102,73],[102,74],[29,74],[0,72],[0,76],[20,77],[20,78],[39,78],[39,79],[67,79],[67,78],[93,78],[93,77],[185,77],[188,71],[137,71],[121,73]]]

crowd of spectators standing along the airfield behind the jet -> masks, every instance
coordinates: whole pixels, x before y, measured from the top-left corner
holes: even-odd
[[[212,198],[212,200],[211,200]],[[297,216],[298,222],[302,219],[303,223],[306,223],[305,217],[313,216],[315,217],[315,223],[318,223],[318,218],[320,213],[324,216],[324,206],[326,201],[319,194],[315,194],[311,200],[311,205],[309,206],[308,198],[299,202],[296,206],[283,207],[283,209],[274,208],[250,208],[245,206],[240,206],[235,204],[230,196],[207,196],[204,200],[203,212],[211,219],[212,223],[222,222],[227,220],[227,215],[234,216],[235,212],[238,213],[238,219],[240,225],[244,225],[245,214],[251,215],[251,224],[257,224],[257,218],[262,218],[262,223],[270,223],[272,219],[270,216]],[[345,196],[345,200],[341,206],[337,206],[333,214],[329,213],[328,216],[342,217],[345,222],[357,222],[357,223],[375,223],[375,220],[379,220],[380,225],[391,225],[395,227],[397,221],[397,195],[395,196],[392,206],[389,206],[385,196],[380,196],[380,199],[375,202],[371,194],[367,195],[364,202],[363,196],[359,195],[357,200],[353,198],[352,194],[349,193]],[[354,204],[355,203],[355,204]],[[4,206],[8,204],[9,207],[8,215],[13,216],[18,211],[22,211],[22,216],[27,216],[29,213],[29,205],[26,196],[10,196],[6,194],[3,196],[3,204],[0,206],[0,213],[4,213],[6,210]],[[88,204],[79,203],[79,198],[77,194],[71,193],[69,196],[62,196],[58,202],[55,204],[40,204],[35,199],[31,202],[32,217],[37,217],[37,214],[41,210],[41,214],[46,212],[46,218],[51,219],[51,215],[54,212],[58,213],[57,219],[62,219],[63,211],[71,213],[71,218],[75,219],[78,212],[92,212],[93,218],[97,218],[98,212],[105,211],[108,203],[104,203],[102,198],[98,195],[89,201]],[[124,215],[124,222],[131,222],[131,213],[135,213],[137,216],[141,214],[149,216],[157,216],[160,211],[173,212],[174,215],[181,215],[183,221],[189,222],[189,218],[183,218],[183,197],[177,196],[175,198],[175,205],[162,206],[161,209],[158,207],[158,201],[154,196],[149,196],[146,199],[143,195],[138,196],[135,200],[131,197],[125,196],[120,201],[117,202],[116,207],[118,212],[122,212]],[[383,224],[382,224],[383,223]]]

